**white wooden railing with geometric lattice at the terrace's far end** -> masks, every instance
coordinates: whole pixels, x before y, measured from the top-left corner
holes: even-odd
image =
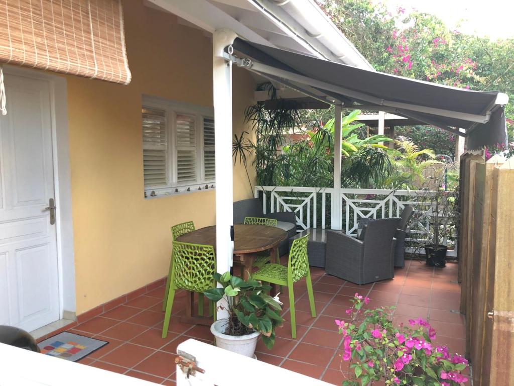
[[[431,236],[432,221],[431,202],[427,196],[435,192],[427,190],[389,190],[389,189],[341,189],[341,213],[337,223],[339,229],[346,234],[356,236],[357,226],[361,218],[399,217],[401,209],[410,204],[414,207],[414,215],[409,224],[406,241],[427,240]],[[255,186],[254,197],[262,197],[264,213],[294,212],[297,230],[308,228],[325,229],[330,224],[328,216],[332,216],[334,207],[333,188],[298,187],[298,186]],[[321,210],[321,216],[319,211]],[[448,240],[444,240],[445,242]],[[448,256],[455,257],[457,243],[453,242],[453,250]],[[408,252],[424,252],[406,247]]]

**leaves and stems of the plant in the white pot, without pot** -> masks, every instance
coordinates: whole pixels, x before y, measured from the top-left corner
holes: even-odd
[[[225,305],[221,306],[228,311],[225,334],[240,336],[259,331],[266,347],[273,347],[275,328],[282,326],[284,322],[280,316],[282,303],[278,295],[268,295],[266,292],[271,289],[268,285],[252,279],[245,281],[240,277],[231,276],[229,272],[223,275],[215,273],[214,279],[222,287],[207,290],[204,294],[213,302],[218,302],[226,296]]]

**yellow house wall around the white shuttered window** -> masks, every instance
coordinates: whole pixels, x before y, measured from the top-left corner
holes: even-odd
[[[144,199],[141,134],[142,94],[212,106],[211,40],[140,0],[123,6],[131,84],[67,76],[77,314],[165,276],[171,225],[215,221],[214,191]],[[239,133],[254,84],[239,68],[233,84]],[[251,196],[236,165],[234,200]]]

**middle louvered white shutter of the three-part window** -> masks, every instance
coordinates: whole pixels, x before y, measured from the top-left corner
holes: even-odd
[[[194,115],[176,114],[175,148],[177,152],[177,182],[196,181],[196,131]]]

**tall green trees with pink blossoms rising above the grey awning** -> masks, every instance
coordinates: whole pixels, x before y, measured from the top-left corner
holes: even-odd
[[[464,34],[434,15],[406,14],[402,8],[390,13],[384,3],[371,0],[317,2],[377,71],[475,91],[497,90],[514,100],[514,39]],[[514,104],[505,112],[512,138]]]

